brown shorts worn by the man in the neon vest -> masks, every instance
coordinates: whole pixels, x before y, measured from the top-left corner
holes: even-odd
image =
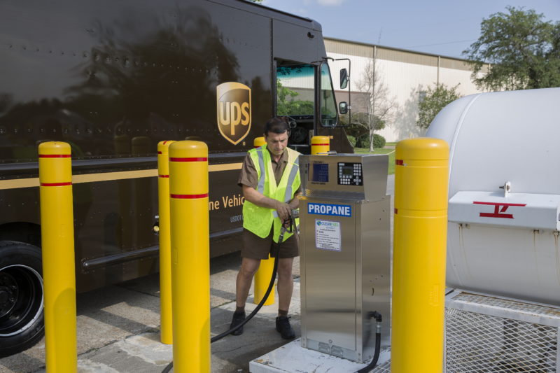
[[[273,234],[274,227],[270,230],[268,237],[264,239],[244,229],[243,234],[241,234],[241,239],[243,240],[241,258],[268,259],[269,253],[272,253],[272,248],[278,245],[272,239]],[[286,241],[280,244],[278,258],[295,258],[297,255],[300,255],[295,236],[296,234],[291,235]]]

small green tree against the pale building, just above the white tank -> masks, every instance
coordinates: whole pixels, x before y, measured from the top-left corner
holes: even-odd
[[[461,97],[457,92],[458,86],[448,88],[444,84],[436,84],[435,87],[428,87],[426,91],[421,92],[422,97],[418,103],[418,120],[416,120],[416,124],[421,128],[428,128],[435,115],[444,106]]]

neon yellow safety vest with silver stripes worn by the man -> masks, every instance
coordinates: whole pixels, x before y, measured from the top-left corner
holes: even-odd
[[[300,153],[290,148],[286,148],[284,151],[288,152],[288,164],[286,164],[286,169],[284,169],[278,185],[276,185],[276,178],[274,178],[272,160],[267,145],[249,150],[248,155],[251,156],[257,170],[258,185],[255,189],[266,197],[288,203],[293,199],[297,188],[300,188],[300,166],[297,158]],[[282,223],[280,218],[274,218],[274,211],[276,210],[260,207],[245,200],[243,204],[243,227],[258,237],[265,238],[269,235],[270,227],[274,224],[273,239],[277,243]],[[296,219],[296,225],[299,225],[299,219]],[[291,235],[291,233],[286,232],[283,240],[286,241]]]

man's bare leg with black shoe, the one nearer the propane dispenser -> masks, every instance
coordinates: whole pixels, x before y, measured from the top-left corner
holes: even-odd
[[[293,258],[278,259],[278,317],[276,330],[284,339],[292,339],[295,333],[288,320],[288,310],[293,293]]]

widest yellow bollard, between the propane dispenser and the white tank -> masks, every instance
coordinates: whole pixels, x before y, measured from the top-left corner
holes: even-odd
[[[443,368],[449,146],[408,139],[395,155],[391,372]]]

